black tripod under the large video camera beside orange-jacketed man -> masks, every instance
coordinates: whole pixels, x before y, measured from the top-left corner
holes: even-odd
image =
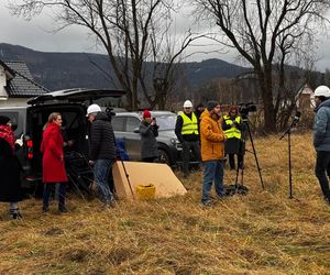
[[[258,172],[258,177],[260,177],[260,182],[261,182],[261,185],[262,185],[262,189],[264,190],[265,187],[264,187],[264,182],[263,182],[263,177],[262,177],[262,174],[261,174],[261,167],[258,165],[258,161],[257,161],[257,156],[256,156],[256,151],[255,151],[255,147],[254,147],[254,143],[253,143],[253,138],[252,138],[252,134],[251,134],[251,130],[250,130],[250,124],[249,124],[249,119],[246,116],[242,116],[242,130],[241,130],[241,133],[242,133],[242,145],[241,145],[241,148],[240,148],[240,154],[242,155],[242,163],[241,165],[238,165],[238,168],[237,168],[237,178],[235,178],[235,193],[240,194],[240,193],[246,193],[248,188],[244,186],[244,155],[245,155],[245,152],[249,152],[249,153],[252,153],[254,155],[254,160],[255,160],[255,164],[256,164],[256,168],[257,168],[257,172]],[[249,139],[250,139],[250,142],[251,142],[251,145],[252,145],[252,152],[251,151],[248,151],[245,148],[245,144],[246,144],[246,140],[248,140],[248,135],[249,135]],[[241,166],[241,184],[239,185],[239,174],[240,174],[240,166]]]

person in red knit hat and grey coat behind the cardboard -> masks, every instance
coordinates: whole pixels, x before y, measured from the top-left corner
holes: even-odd
[[[158,158],[158,125],[148,110],[143,111],[143,120],[140,124],[141,134],[141,160],[145,163],[154,163]]]

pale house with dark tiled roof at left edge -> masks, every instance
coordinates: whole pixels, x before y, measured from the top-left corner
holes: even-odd
[[[0,107],[26,106],[26,100],[48,92],[35,82],[24,62],[0,59]]]

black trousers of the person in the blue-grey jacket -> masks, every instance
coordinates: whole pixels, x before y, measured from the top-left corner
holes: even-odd
[[[315,175],[319,179],[322,194],[330,201],[330,189],[328,176],[330,175],[330,152],[317,151]]]

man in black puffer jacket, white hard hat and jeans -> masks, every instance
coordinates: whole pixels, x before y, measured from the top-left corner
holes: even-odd
[[[110,190],[111,168],[116,161],[116,140],[109,117],[98,105],[87,109],[91,123],[89,135],[89,164],[94,165],[95,182],[105,206],[114,207],[113,194]]]

